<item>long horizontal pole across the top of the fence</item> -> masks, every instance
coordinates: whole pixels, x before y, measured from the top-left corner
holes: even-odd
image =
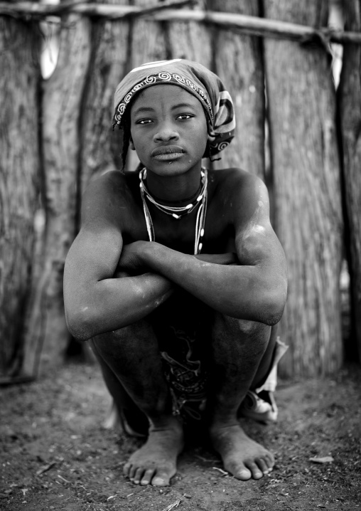
[[[286,23],[273,19],[258,18],[200,9],[179,9],[179,7],[194,4],[194,0],[168,1],[162,4],[141,9],[135,6],[120,6],[114,4],[92,4],[84,2],[62,2],[62,4],[38,4],[31,1],[7,2],[0,1],[0,15],[31,16],[46,18],[62,16],[65,13],[97,16],[107,19],[122,19],[129,16],[143,16],[152,21],[196,21],[212,23],[218,26],[241,31],[252,36],[276,37],[292,41],[320,41],[321,43],[361,43],[360,32],[347,32],[333,28],[314,28],[311,26]],[[172,7],[172,9],[171,9]]]

